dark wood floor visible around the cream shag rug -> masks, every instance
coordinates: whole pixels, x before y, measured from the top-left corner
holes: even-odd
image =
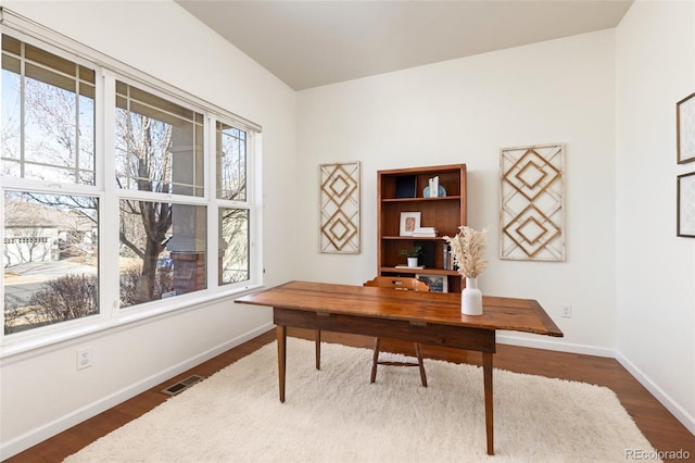
[[[290,329],[289,334],[313,339],[312,334],[305,330]],[[60,462],[99,437],[109,434],[164,402],[168,396],[162,393],[161,390],[165,387],[190,375],[211,376],[273,340],[275,340],[274,330],[198,365],[7,461],[13,463]],[[323,334],[323,340],[368,348],[372,347],[374,343],[371,338],[332,333]],[[477,352],[435,349],[425,346],[422,350],[425,356],[432,359],[480,364],[481,355]],[[494,356],[494,363],[497,368],[513,372],[606,386],[616,392],[644,436],[657,450],[683,450],[688,452],[691,461],[695,461],[695,436],[679,423],[614,359],[500,345]],[[666,461],[669,460],[666,459]]]

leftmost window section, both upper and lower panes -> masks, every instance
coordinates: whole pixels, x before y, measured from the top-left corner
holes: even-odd
[[[4,189],[4,334],[94,315],[94,72],[3,36],[1,116],[3,177],[55,191]]]

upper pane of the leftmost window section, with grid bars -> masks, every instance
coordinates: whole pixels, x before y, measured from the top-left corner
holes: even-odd
[[[94,72],[2,37],[2,174],[92,185]]]

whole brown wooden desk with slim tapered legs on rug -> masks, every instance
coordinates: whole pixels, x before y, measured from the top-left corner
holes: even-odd
[[[285,402],[287,327],[402,339],[482,352],[488,454],[494,454],[492,355],[498,329],[561,337],[532,299],[483,297],[483,314],[460,313],[460,293],[396,291],[391,288],[290,281],[236,300],[273,308],[277,325],[278,379]],[[320,340],[316,341],[316,367]]]

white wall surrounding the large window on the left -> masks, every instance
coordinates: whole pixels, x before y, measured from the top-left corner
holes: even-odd
[[[263,126],[266,283],[290,279],[295,92],[174,2],[3,7]],[[0,361],[0,460],[268,329],[269,311],[207,303]],[[77,372],[76,348],[93,365]]]

